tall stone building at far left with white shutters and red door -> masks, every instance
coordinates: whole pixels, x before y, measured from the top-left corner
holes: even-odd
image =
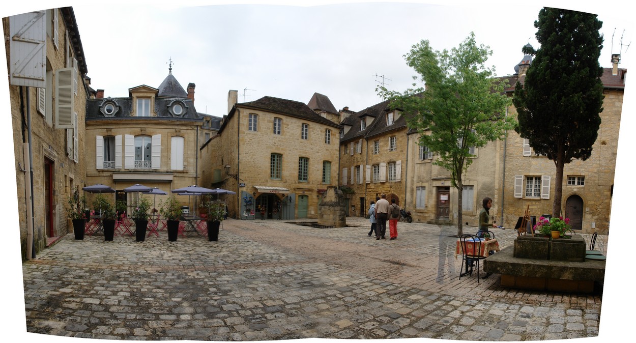
[[[69,232],[67,200],[86,184],[89,87],[73,8],[6,17],[3,29],[24,259]]]

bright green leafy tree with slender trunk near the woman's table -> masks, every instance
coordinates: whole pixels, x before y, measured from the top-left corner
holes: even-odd
[[[391,99],[392,108],[403,111],[408,126],[418,130],[418,143],[438,155],[433,163],[450,171],[458,190],[457,235],[462,234],[462,174],[474,156],[470,148],[503,139],[516,124],[504,115],[509,105],[503,94],[507,80],[493,78],[495,68],[484,66],[490,55],[488,46],[476,45],[473,32],[450,52],[435,51],[422,40],[404,57],[419,74],[413,80],[424,81],[425,90],[399,93],[378,88],[380,95]]]

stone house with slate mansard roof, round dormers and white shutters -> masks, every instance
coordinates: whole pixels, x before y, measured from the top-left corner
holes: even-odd
[[[123,189],[135,183],[169,193],[156,196],[157,206],[170,190],[198,185],[204,117],[195,109],[194,88],[190,83],[186,92],[170,66],[158,88],[139,85],[127,97],[97,90],[86,102],[86,183],[111,186],[129,210],[138,194]],[[194,206],[189,197],[177,200]]]

